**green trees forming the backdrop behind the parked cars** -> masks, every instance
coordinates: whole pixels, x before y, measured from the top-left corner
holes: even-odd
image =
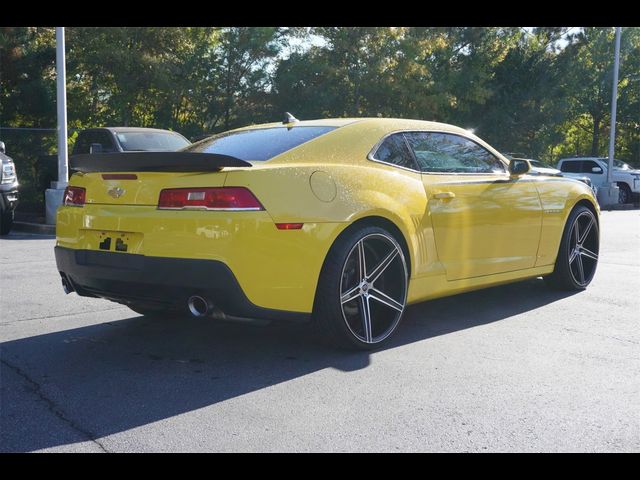
[[[444,121],[550,162],[606,155],[613,38],[604,27],[69,27],[70,143],[101,125],[193,139],[290,111]],[[626,27],[616,155],[637,166],[639,72],[640,29]],[[55,128],[55,88],[54,28],[2,27],[0,135],[32,185],[55,131],[2,127]]]

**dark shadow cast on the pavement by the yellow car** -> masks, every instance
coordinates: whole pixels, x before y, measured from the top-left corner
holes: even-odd
[[[385,349],[508,321],[568,295],[535,279],[414,305]],[[5,342],[0,352],[4,452],[100,439],[322,369],[366,368],[375,355],[331,349],[306,325],[141,316]]]

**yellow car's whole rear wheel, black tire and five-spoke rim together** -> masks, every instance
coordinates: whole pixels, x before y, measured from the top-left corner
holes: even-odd
[[[400,324],[408,284],[405,256],[392,234],[375,226],[348,229],[320,272],[313,323],[339,348],[378,348]]]

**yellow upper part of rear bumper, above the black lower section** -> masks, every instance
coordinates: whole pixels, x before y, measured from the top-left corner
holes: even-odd
[[[327,251],[345,225],[305,223],[300,230],[278,230],[266,211],[173,211],[87,204],[58,208],[56,245],[122,255],[114,245],[105,251],[99,243],[101,236],[124,233],[131,237],[126,255],[144,255],[145,269],[148,258],[215,261],[233,272],[254,305],[310,313]],[[184,265],[190,268],[191,263]],[[207,285],[206,281],[200,285]]]

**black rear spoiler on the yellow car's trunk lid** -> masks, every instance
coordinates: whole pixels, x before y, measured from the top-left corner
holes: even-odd
[[[77,172],[217,172],[224,167],[251,167],[229,155],[197,152],[122,152],[73,155]]]

